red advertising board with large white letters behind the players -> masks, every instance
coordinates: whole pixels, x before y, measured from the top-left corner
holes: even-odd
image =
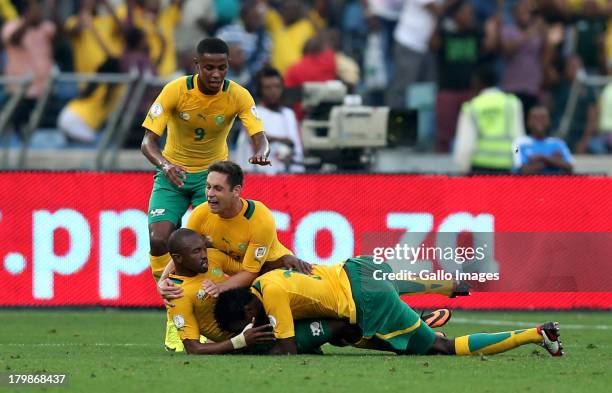
[[[0,306],[161,305],[148,271],[151,186],[151,173],[0,173]],[[415,297],[415,307],[612,307],[611,178],[250,175],[243,195],[317,263],[370,252],[373,233],[487,234],[487,271],[513,285],[477,283],[469,298]]]

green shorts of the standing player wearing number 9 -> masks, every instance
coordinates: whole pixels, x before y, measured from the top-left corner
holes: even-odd
[[[170,221],[177,227],[189,208],[206,202],[206,177],[208,171],[187,173],[183,187],[178,188],[168,180],[161,170],[157,170],[153,191],[149,199],[149,225],[154,222]]]

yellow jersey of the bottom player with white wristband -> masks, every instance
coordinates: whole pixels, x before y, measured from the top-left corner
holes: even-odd
[[[183,297],[172,300],[174,307],[167,307],[168,319],[174,322],[181,340],[198,340],[200,334],[215,342],[231,338],[221,330],[214,317],[217,298],[207,295],[202,288],[204,280],[219,283],[226,280],[226,274],[235,274],[232,260],[214,249],[208,249],[208,271],[193,277],[171,275],[175,285],[183,288]]]

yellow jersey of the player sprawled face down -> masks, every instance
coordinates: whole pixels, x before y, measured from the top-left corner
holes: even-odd
[[[343,266],[314,265],[311,275],[276,269],[255,279],[251,292],[263,303],[276,338],[295,336],[294,319],[346,318],[356,323],[355,301]]]

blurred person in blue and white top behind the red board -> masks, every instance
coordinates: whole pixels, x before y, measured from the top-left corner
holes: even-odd
[[[531,108],[527,127],[530,136],[514,141],[514,170],[522,175],[571,173],[574,160],[567,145],[548,136],[548,109],[541,105]]]

